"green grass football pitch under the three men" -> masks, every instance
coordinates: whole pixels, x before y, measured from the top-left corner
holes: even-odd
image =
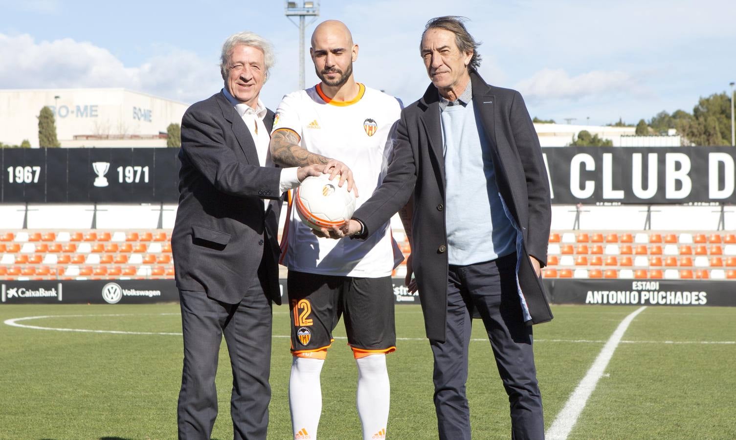
[[[634,306],[556,305],[534,327],[549,427]],[[105,316],[115,314],[118,316]],[[69,316],[82,315],[82,316]],[[180,333],[179,306],[2,305],[0,322]],[[432,358],[417,305],[396,307],[389,439],[436,439]],[[291,438],[289,312],[274,308],[269,439]],[[359,439],[357,372],[344,327],[322,371],[319,439]],[[467,383],[474,439],[509,439],[509,403],[480,321]],[[477,341],[475,339],[478,339]],[[735,439],[736,308],[649,307],[631,323],[570,439]],[[724,343],[725,342],[725,343]],[[222,344],[214,439],[232,438],[230,363]],[[174,439],[181,336],[80,333],[0,324],[0,439]]]

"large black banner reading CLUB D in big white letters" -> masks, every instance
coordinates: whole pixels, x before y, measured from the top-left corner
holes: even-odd
[[[552,203],[736,203],[730,146],[542,149]]]

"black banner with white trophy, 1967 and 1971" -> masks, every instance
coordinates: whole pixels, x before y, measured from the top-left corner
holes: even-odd
[[[0,149],[2,203],[176,203],[179,149]]]

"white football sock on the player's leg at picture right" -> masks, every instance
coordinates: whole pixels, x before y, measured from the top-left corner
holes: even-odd
[[[358,363],[357,405],[363,439],[385,439],[391,401],[386,355],[369,355],[355,359],[355,362]]]

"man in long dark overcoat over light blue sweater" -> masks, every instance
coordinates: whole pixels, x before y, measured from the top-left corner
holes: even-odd
[[[461,18],[428,22],[420,51],[432,84],[403,110],[388,174],[342,232],[367,236],[404,207],[407,283],[418,284],[434,353],[440,439],[470,439],[473,317],[483,319],[509,394],[512,438],[542,439],[531,324],[552,319],[539,278],[548,178],[522,97],[484,82],[477,47]]]

